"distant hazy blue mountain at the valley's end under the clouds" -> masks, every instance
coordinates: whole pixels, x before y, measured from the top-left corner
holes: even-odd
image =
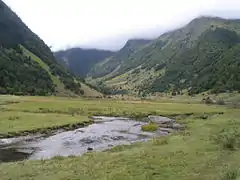
[[[112,55],[114,55],[112,51],[81,48],[71,48],[55,53],[58,62],[81,77],[85,77],[95,64]]]

